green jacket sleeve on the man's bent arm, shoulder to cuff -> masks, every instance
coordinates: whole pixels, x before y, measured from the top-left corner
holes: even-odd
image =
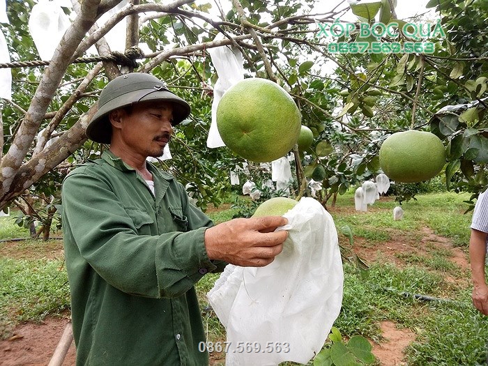
[[[116,289],[160,298],[182,295],[218,268],[206,254],[212,223],[203,213],[189,213],[187,232],[139,235],[110,183],[83,172],[65,179],[62,204],[68,271],[91,267]]]

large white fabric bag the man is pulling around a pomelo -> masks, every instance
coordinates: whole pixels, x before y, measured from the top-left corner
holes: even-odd
[[[265,267],[229,264],[207,297],[227,330],[226,365],[308,363],[342,304],[344,275],[330,214],[310,197],[284,214],[284,250]]]

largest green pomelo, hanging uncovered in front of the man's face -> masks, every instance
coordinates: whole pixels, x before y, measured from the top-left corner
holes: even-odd
[[[287,91],[267,79],[244,79],[231,86],[217,107],[222,141],[236,155],[270,162],[298,141],[301,116]]]

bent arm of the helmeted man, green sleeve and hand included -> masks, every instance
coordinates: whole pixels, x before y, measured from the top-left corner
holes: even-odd
[[[267,258],[270,251],[281,252],[279,242],[287,237],[286,231],[265,232],[286,224],[287,220],[281,217],[269,222],[236,219],[212,228],[139,235],[135,223],[109,185],[88,174],[68,176],[62,195],[66,218],[63,226],[66,225],[66,232],[73,237],[70,241],[80,257],[73,266],[82,266],[80,259],[83,259],[113,287],[139,296],[180,296],[206,272],[216,269],[212,259],[264,266],[265,262],[255,257],[261,258],[262,251],[268,252]],[[207,231],[211,229],[218,240],[208,239]],[[207,241],[212,254],[206,250]],[[219,255],[213,254],[216,244],[222,246]],[[236,260],[234,253],[241,253],[238,256],[245,260]]]

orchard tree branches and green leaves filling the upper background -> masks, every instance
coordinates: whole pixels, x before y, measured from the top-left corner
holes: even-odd
[[[106,148],[87,142],[84,130],[103,86],[133,71],[165,79],[192,105],[191,119],[178,126],[171,142],[173,159],[162,165],[183,183],[193,183],[190,190],[202,208],[218,204],[228,191],[228,167],[243,162],[226,148],[206,148],[218,77],[208,49],[220,46],[242,52],[245,77],[266,77],[287,89],[302,111],[303,124],[314,132],[311,151],[296,164],[298,195],[307,194],[302,183],[314,178],[323,185],[325,204],[331,195],[379,173],[381,141],[408,128],[441,134],[452,187],[476,193],[487,184],[486,1],[429,1],[442,22],[434,22],[427,35],[404,28],[406,20],[396,19],[392,0],[351,5],[358,16],[355,24],[340,21],[349,10],[345,1],[319,12],[312,0],[233,0],[226,13],[211,3],[133,0],[98,26],[96,21],[120,3],[73,1],[72,8],[63,8],[71,24],[44,64],[38,62],[25,27],[33,2],[7,1],[11,24],[2,24],[2,30],[13,62],[4,67],[12,70],[13,98],[3,100],[0,208],[31,187],[52,186],[51,178],[59,185],[70,167]],[[112,52],[104,36],[124,19],[126,51],[121,54]],[[378,21],[397,26],[377,39],[360,34],[361,24]],[[330,46],[343,42],[353,52],[353,41],[380,47],[380,52],[341,53]],[[427,49],[432,53],[413,48],[420,41],[432,42]],[[151,52],[143,54],[142,43]],[[408,52],[397,49],[406,44],[411,45]],[[93,45],[98,56],[89,58]],[[330,64],[335,71],[325,73]],[[476,104],[466,107],[468,112],[438,113],[470,102]]]

